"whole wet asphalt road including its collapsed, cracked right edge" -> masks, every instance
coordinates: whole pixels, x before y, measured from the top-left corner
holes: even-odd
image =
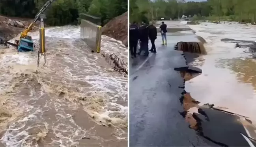
[[[201,104],[186,91],[185,82],[204,76],[200,68],[190,66],[192,61],[204,62],[201,54],[208,54],[199,38],[173,31],[162,46],[157,36],[157,54],[130,60],[130,146],[256,145],[250,118]]]

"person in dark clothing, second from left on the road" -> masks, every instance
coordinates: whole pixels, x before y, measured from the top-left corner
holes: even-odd
[[[140,33],[140,52],[138,54],[140,55],[142,50],[145,51],[144,56],[148,56],[148,37],[149,37],[149,26],[142,22],[142,26],[139,28]]]

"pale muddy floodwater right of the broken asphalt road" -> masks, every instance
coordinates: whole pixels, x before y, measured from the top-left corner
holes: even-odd
[[[202,69],[202,75],[186,82],[186,90],[200,104],[214,104],[222,110],[256,120],[256,60],[248,47],[236,48],[236,43],[221,39],[256,41],[256,26],[235,22],[187,25],[203,37],[207,55],[193,66]],[[183,31],[192,34],[192,31]]]

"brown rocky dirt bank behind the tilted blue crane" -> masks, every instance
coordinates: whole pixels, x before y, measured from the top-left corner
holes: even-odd
[[[33,19],[6,17],[0,15],[0,37],[5,40],[12,39],[21,33],[31,22],[33,22]],[[38,24],[39,23],[37,23],[36,26]],[[36,30],[36,28],[33,28],[32,32]]]

